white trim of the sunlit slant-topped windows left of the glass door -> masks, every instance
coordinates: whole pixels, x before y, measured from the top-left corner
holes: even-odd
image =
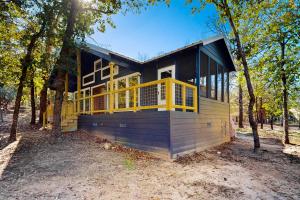
[[[125,79],[126,88],[127,88],[127,87],[129,87],[129,78],[132,77],[132,76],[136,76],[136,75],[138,76],[138,84],[140,84],[141,83],[141,73],[139,73],[139,72],[135,72],[135,73],[132,73],[132,74],[129,74],[129,75],[126,75],[126,76],[116,78],[116,79],[114,79],[114,81]],[[108,91],[108,89],[109,89],[109,81],[107,81],[107,91]],[[115,84],[114,89],[118,90],[118,84]],[[118,109],[119,108],[119,99],[118,99],[118,94],[117,93],[115,93],[114,98],[115,98],[115,107],[116,107],[116,109]],[[107,100],[109,100],[109,99],[107,98]],[[138,106],[140,106],[140,101],[141,101],[141,99],[140,99],[140,88],[138,88]],[[129,91],[128,90],[126,90],[126,108],[129,108]]]

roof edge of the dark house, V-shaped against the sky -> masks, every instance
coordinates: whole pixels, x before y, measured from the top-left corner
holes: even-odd
[[[187,49],[191,49],[191,48],[194,48],[198,45],[200,46],[205,46],[205,45],[208,45],[208,44],[211,44],[211,43],[214,43],[214,42],[222,42],[223,45],[225,45],[225,48],[227,49],[227,53],[228,53],[228,56],[230,57],[230,69],[232,71],[235,71],[235,66],[234,66],[234,62],[233,62],[233,58],[232,58],[232,55],[231,55],[231,52],[230,52],[230,49],[224,39],[224,37],[222,36],[215,36],[215,37],[211,37],[211,38],[208,38],[208,39],[205,39],[205,40],[199,40],[197,42],[194,42],[192,44],[189,44],[189,45],[186,45],[184,47],[181,47],[181,48],[178,48],[176,50],[173,50],[173,51],[170,51],[170,52],[167,52],[167,53],[164,53],[164,54],[161,54],[159,56],[155,56],[153,58],[150,58],[148,60],[145,60],[145,61],[138,61],[136,59],[133,59],[133,58],[130,58],[128,56],[124,56],[122,54],[119,54],[119,53],[116,53],[114,51],[111,51],[111,50],[108,50],[108,49],[105,49],[105,48],[102,48],[102,47],[99,47],[99,46],[96,46],[94,44],[90,44],[90,43],[85,43],[84,44],[84,47],[83,49],[84,50],[87,50],[87,51],[96,51],[96,52],[101,52],[102,54],[105,54],[107,56],[110,56],[110,55],[114,55],[114,56],[117,56],[117,57],[120,57],[120,58],[123,58],[123,59],[126,59],[128,61],[131,61],[131,62],[134,62],[134,63],[137,63],[137,64],[146,64],[146,63],[149,63],[149,62],[153,62],[153,61],[156,61],[158,59],[161,59],[163,57],[166,57],[166,56],[170,56],[172,54],[176,54],[176,53],[179,53],[179,52],[182,52],[184,50],[187,50]],[[91,52],[91,53],[92,53]]]

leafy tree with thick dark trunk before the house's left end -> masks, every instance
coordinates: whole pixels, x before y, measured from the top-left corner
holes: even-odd
[[[106,24],[114,27],[111,15],[118,13],[121,9],[139,8],[142,3],[138,0],[130,1],[79,1],[70,0],[66,2],[66,26],[63,31],[63,42],[59,58],[55,64],[55,80],[52,87],[55,88],[55,102],[53,115],[53,133],[56,137],[61,136],[61,108],[63,102],[65,75],[75,71],[71,56],[75,50],[75,39],[83,39],[86,34],[91,34],[93,25],[97,23],[100,31],[105,31]]]

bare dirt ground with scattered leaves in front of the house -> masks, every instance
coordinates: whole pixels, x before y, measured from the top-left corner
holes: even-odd
[[[300,146],[273,137],[257,153],[251,137],[238,134],[173,162],[107,150],[82,131],[53,141],[37,127],[22,130],[18,141],[0,145],[0,199],[300,199]]]

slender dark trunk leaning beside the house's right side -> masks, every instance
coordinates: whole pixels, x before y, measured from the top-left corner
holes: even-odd
[[[230,26],[233,30],[234,36],[235,36],[235,41],[237,43],[237,50],[239,55],[241,56],[242,59],[242,64],[244,67],[244,75],[245,75],[245,79],[246,79],[246,83],[247,83],[247,88],[248,88],[248,93],[249,93],[249,106],[248,106],[248,117],[249,117],[249,123],[250,126],[252,128],[252,134],[253,134],[253,142],[254,142],[254,151],[256,151],[256,149],[260,148],[260,142],[259,142],[259,135],[258,135],[258,131],[257,131],[257,123],[253,117],[253,106],[255,103],[255,95],[253,92],[253,87],[252,87],[252,83],[251,83],[251,78],[250,78],[250,74],[249,74],[249,69],[248,69],[248,63],[246,60],[246,55],[245,52],[242,48],[242,44],[241,44],[241,40],[240,40],[240,36],[239,33],[235,27],[235,24],[233,22],[232,19],[232,15],[231,12],[229,10],[228,4],[226,1],[224,1],[224,6],[225,6],[225,12],[226,15],[228,17]]]

